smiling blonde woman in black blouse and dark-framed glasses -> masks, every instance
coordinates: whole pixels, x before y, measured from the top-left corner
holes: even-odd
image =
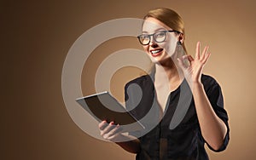
[[[197,43],[194,59],[180,51],[186,50],[184,37],[183,20],[175,11],[148,12],[138,39],[154,63],[154,71],[125,85],[126,107],[146,129],[126,135],[113,122],[99,124],[104,139],[137,153],[137,159],[208,159],[205,143],[212,151],[223,151],[229,142],[221,89],[212,77],[202,74],[210,56],[208,47],[201,52]],[[131,84],[142,90],[136,107],[137,90]],[[180,106],[186,109],[175,112]],[[148,118],[143,120],[145,115]],[[170,125],[174,117],[179,120]]]

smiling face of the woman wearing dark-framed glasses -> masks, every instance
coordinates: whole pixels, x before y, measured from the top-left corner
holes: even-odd
[[[148,17],[144,21],[143,34],[138,37],[151,60],[159,63],[165,63],[164,61],[174,54],[177,39],[178,42],[183,42],[183,33],[173,30],[153,17]]]

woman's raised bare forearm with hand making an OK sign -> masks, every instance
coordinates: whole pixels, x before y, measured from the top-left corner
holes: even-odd
[[[184,55],[182,59],[188,59],[190,66],[185,66],[183,60],[178,59],[178,63],[183,70],[184,77],[189,83],[195,100],[195,110],[199,120],[201,134],[213,150],[218,150],[224,143],[224,136],[227,133],[227,127],[224,122],[213,111],[207,94],[201,83],[201,72],[206,64],[210,53],[208,47],[200,54],[200,43],[197,43],[195,51],[195,60],[191,55]]]

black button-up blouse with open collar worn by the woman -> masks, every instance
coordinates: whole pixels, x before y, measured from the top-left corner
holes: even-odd
[[[218,149],[224,151],[230,140],[230,129],[223,95],[212,77],[202,75],[201,82],[213,110],[228,128],[223,146]],[[145,126],[143,130],[129,133],[140,140],[141,150],[137,153],[137,160],[208,159],[204,148],[207,142],[201,135],[193,95],[186,80],[169,95],[163,116],[159,114],[153,76],[137,77],[127,83],[125,103],[131,114]],[[209,148],[214,151],[211,146]]]

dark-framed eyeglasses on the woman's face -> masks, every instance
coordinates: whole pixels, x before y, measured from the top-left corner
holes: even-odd
[[[137,36],[139,42],[143,45],[148,45],[151,41],[151,36],[153,37],[154,41],[157,43],[162,43],[166,41],[166,32],[177,32],[179,31],[157,31],[154,34],[142,34]]]

